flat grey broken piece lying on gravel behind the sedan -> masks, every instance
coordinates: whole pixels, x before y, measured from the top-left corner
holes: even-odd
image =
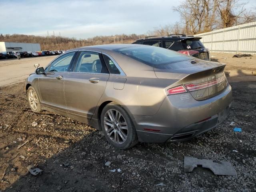
[[[230,162],[219,161],[213,162],[207,159],[198,159],[194,157],[184,158],[184,171],[192,172],[198,165],[202,165],[203,168],[209,168],[215,175],[235,175],[236,170]]]

